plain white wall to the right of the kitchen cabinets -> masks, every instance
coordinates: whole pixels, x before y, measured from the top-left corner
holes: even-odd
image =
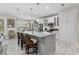
[[[59,40],[75,43],[75,8],[59,13]]]

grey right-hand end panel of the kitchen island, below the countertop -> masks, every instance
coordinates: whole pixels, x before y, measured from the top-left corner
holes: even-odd
[[[56,38],[55,34],[45,37],[45,54],[52,55],[56,51]]]

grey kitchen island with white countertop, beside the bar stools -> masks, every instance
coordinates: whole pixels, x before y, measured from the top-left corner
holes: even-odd
[[[35,32],[35,31],[20,31],[23,34],[30,35],[38,40],[39,55],[53,55],[56,50],[55,33]]]

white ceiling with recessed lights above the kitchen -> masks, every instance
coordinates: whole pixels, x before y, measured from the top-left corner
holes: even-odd
[[[65,3],[0,3],[0,16],[14,16],[16,18],[37,18],[58,13],[60,10],[75,4]],[[32,8],[32,11],[31,11]]]

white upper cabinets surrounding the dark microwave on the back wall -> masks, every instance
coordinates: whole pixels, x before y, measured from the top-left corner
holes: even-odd
[[[44,19],[44,26],[59,26],[59,16],[52,16]]]

